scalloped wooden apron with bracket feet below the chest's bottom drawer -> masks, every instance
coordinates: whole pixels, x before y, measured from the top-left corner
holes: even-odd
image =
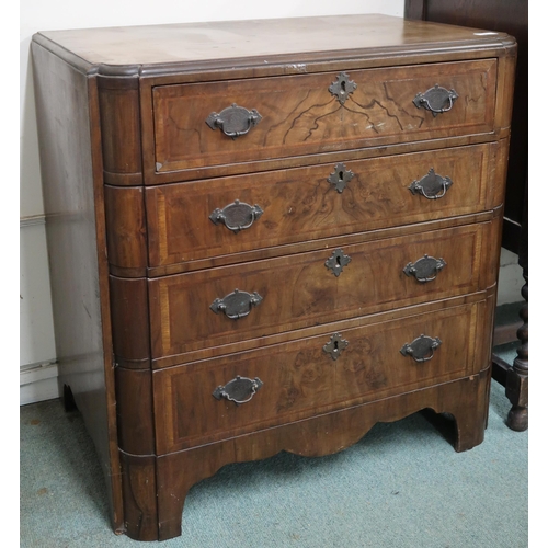
[[[160,539],[181,534],[183,504],[190,488],[229,463],[259,460],[281,450],[309,457],[338,453],[355,444],[375,423],[393,422],[426,408],[453,415],[455,449],[470,449],[483,441],[489,386],[489,369],[484,369],[472,377],[318,415],[283,429],[264,430],[159,457]]]

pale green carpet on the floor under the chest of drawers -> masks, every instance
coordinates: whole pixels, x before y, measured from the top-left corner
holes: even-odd
[[[227,466],[190,491],[181,537],[142,544],[110,529],[80,415],[34,403],[21,408],[21,547],[525,548],[528,434],[507,411],[493,383],[486,439],[460,454],[418,413],[336,455]]]

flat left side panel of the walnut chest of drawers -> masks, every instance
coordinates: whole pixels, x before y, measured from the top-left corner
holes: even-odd
[[[70,387],[123,529],[96,82],[32,44],[59,384]]]

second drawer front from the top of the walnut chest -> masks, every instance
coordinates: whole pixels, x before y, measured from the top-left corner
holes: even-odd
[[[149,187],[149,264],[481,212],[495,150],[486,144]]]

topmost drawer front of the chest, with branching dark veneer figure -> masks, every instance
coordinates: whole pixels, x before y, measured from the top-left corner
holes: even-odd
[[[323,72],[153,88],[156,171],[229,165],[493,130],[495,59],[351,70],[345,72],[350,82],[345,84],[344,102],[340,94],[330,91],[340,75]],[[356,85],[352,93],[351,82]],[[415,106],[413,100],[436,84],[454,90],[458,99],[448,112],[434,116],[431,111]],[[232,105],[246,111],[231,110]],[[236,136],[237,133],[241,135]]]

